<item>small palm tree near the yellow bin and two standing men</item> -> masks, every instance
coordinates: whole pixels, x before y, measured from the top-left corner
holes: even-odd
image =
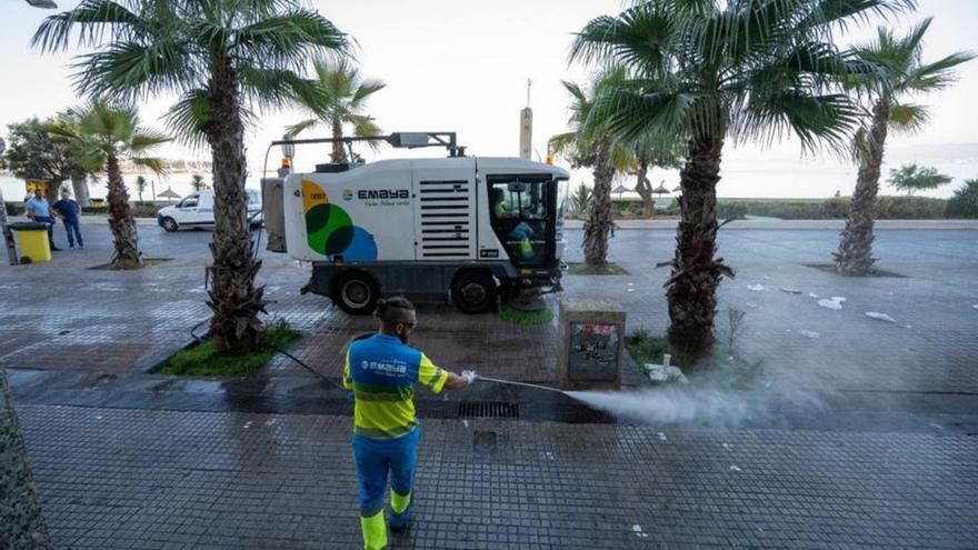
[[[70,139],[78,162],[91,171],[106,171],[108,179],[109,228],[112,230],[114,254],[112,267],[134,269],[141,266],[136,220],[129,206],[129,191],[122,180],[119,163],[126,159],[133,164],[163,172],[162,160],[146,157],[150,149],[170,141],[160,132],[139,126],[136,109],[94,99],[61,116],[68,124],[49,127],[49,132]]]

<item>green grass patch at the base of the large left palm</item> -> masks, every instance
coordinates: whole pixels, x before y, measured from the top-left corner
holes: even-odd
[[[247,356],[231,357],[220,353],[210,340],[179,351],[163,366],[163,374],[191,377],[232,377],[253,374],[261,370],[277,353],[301,338],[285,319],[267,324],[258,336],[258,349]]]

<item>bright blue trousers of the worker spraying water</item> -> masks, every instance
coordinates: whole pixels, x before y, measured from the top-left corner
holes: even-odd
[[[383,492],[387,490],[387,472],[390,471],[390,487],[401,496],[410,496],[415,481],[415,464],[418,462],[418,441],[421,427],[397,439],[370,439],[353,436],[353,460],[357,462],[357,478],[360,480],[360,514],[371,517],[383,508]],[[407,513],[405,516],[408,516]],[[391,527],[409,517],[391,518]]]

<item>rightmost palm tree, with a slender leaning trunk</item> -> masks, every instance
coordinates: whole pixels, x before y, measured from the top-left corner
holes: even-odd
[[[880,28],[874,42],[856,49],[859,59],[876,70],[856,76],[847,82],[870,106],[871,117],[854,140],[859,164],[856,190],[849,203],[846,229],[835,252],[836,270],[848,276],[872,273],[872,208],[879,191],[879,172],[888,130],[912,132],[927,122],[927,108],[905,99],[950,84],[952,68],[972,59],[974,53],[952,53],[932,63],[925,63],[922,41],[930,19],[925,19],[909,34],[897,38]]]

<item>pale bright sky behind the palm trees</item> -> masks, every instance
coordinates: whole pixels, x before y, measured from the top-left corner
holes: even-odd
[[[77,0],[60,0],[61,9]],[[470,154],[517,156],[519,111],[527,106],[527,80],[533,109],[533,146],[546,154],[550,136],[565,131],[567,93],[561,79],[583,82],[593,68],[568,62],[572,33],[587,21],[621,10],[621,0],[312,0],[310,6],[356,39],[357,61],[366,76],[387,82],[369,103],[369,112],[385,131],[457,131]],[[920,0],[916,13],[895,24],[906,30],[924,17],[935,21],[925,42],[925,60],[959,50],[978,51],[978,1]],[[7,86],[0,101],[0,128],[28,117],[48,117],[82,100],[74,93],[69,67],[77,51],[42,56],[29,46],[42,18],[51,12],[30,8],[23,0],[0,0],[4,21],[0,33],[0,71]],[[858,42],[872,27],[854,29],[846,40]],[[959,69],[951,88],[922,98],[931,106],[931,121],[914,136],[888,141],[888,167],[921,161],[937,166],[956,183],[931,194],[947,197],[964,178],[978,177],[978,61]],[[162,128],[160,116],[172,97],[141,104],[148,126]],[[298,111],[263,113],[247,137],[249,167],[261,170],[269,141],[302,118]],[[0,133],[3,133],[0,130]],[[325,130],[321,132],[325,134]],[[307,137],[312,137],[311,133]],[[168,146],[167,157],[209,158],[207,151]],[[368,160],[406,156],[437,156],[437,150],[361,151]],[[325,147],[307,146],[297,154],[299,169],[322,162]],[[272,154],[275,158],[275,153]],[[273,161],[270,162],[273,164]],[[885,167],[886,168],[886,167]],[[886,170],[885,172],[886,173]],[[855,168],[830,154],[800,156],[795,142],[770,149],[755,144],[725,149],[723,197],[822,197],[851,192]],[[653,180],[678,184],[675,171],[657,171]],[[587,171],[572,178],[589,182]],[[630,187],[627,178],[622,182]],[[657,183],[658,181],[653,181]]]

